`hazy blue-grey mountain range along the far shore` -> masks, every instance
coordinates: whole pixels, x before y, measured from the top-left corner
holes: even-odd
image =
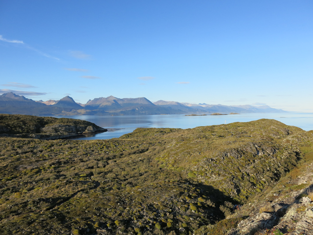
[[[145,97],[99,97],[86,104],[76,103],[66,96],[60,100],[35,101],[14,93],[0,95],[0,113],[24,115],[160,115],[160,114],[210,114],[210,113],[283,113],[267,105],[190,104],[158,100],[151,102]]]

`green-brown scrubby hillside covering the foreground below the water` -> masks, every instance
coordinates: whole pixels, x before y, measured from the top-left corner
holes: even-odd
[[[234,205],[298,177],[311,141],[269,119],[111,140],[1,137],[0,234],[225,234],[249,216]]]

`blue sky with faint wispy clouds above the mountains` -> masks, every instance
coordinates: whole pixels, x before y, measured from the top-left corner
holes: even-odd
[[[0,0],[0,94],[313,112],[312,0]]]

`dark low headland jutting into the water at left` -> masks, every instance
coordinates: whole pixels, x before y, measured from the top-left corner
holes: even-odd
[[[0,136],[56,140],[105,132],[89,121],[0,114]]]

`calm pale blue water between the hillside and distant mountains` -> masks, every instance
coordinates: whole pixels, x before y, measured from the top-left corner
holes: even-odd
[[[194,128],[197,126],[220,125],[231,122],[247,122],[261,118],[275,119],[287,125],[303,130],[313,130],[313,114],[274,113],[274,114],[238,114],[223,116],[184,116],[184,115],[142,115],[142,116],[55,116],[56,118],[74,118],[95,123],[108,129],[108,132],[96,134],[80,140],[117,138],[133,132],[136,128]]]

